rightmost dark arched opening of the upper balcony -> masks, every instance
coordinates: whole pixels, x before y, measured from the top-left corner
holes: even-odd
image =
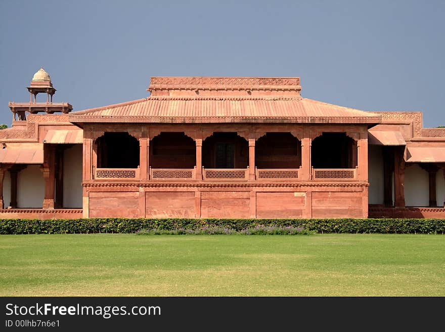
[[[311,148],[315,169],[353,169],[357,167],[357,142],[345,133],[323,133]]]

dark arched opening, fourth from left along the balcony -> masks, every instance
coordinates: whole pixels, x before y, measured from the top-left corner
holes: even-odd
[[[297,169],[301,166],[301,142],[291,133],[266,133],[255,143],[258,169]]]

